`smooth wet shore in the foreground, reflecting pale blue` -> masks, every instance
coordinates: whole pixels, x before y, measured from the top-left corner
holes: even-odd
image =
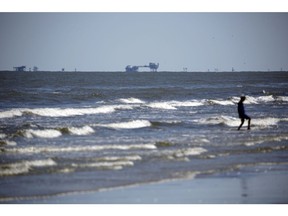
[[[193,179],[73,192],[58,196],[11,200],[15,204],[287,204],[285,171],[239,176],[205,175]]]

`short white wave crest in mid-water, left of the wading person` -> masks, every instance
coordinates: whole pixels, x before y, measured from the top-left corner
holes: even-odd
[[[98,125],[101,127],[108,127],[113,129],[137,129],[143,127],[150,127],[152,124],[148,120],[134,120],[129,122],[111,123]]]

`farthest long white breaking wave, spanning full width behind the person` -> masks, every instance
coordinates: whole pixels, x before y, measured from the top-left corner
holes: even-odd
[[[138,98],[121,98],[119,102],[125,104],[118,105],[105,105],[96,108],[19,108],[10,109],[6,111],[0,111],[1,118],[13,118],[22,115],[38,115],[43,117],[70,117],[92,114],[108,114],[115,112],[116,110],[133,109],[135,107],[144,106],[154,109],[164,110],[177,110],[177,107],[197,107],[197,106],[209,106],[209,105],[222,105],[231,106],[235,105],[239,101],[239,97],[231,97],[229,99],[201,99],[201,100],[188,100],[188,101],[155,101],[151,103],[145,103]],[[286,103],[288,102],[288,96],[246,96],[246,104],[259,104],[259,103]]]

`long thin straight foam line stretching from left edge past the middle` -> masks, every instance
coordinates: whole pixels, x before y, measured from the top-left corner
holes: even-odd
[[[39,154],[55,152],[85,152],[85,151],[105,151],[105,150],[153,150],[157,149],[154,144],[135,144],[135,145],[97,145],[97,146],[70,146],[70,147],[20,147],[7,148],[5,153],[20,154]]]

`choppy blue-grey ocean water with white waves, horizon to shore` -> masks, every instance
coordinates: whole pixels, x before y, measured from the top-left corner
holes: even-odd
[[[0,72],[0,202],[287,172],[287,105],[287,72]]]

